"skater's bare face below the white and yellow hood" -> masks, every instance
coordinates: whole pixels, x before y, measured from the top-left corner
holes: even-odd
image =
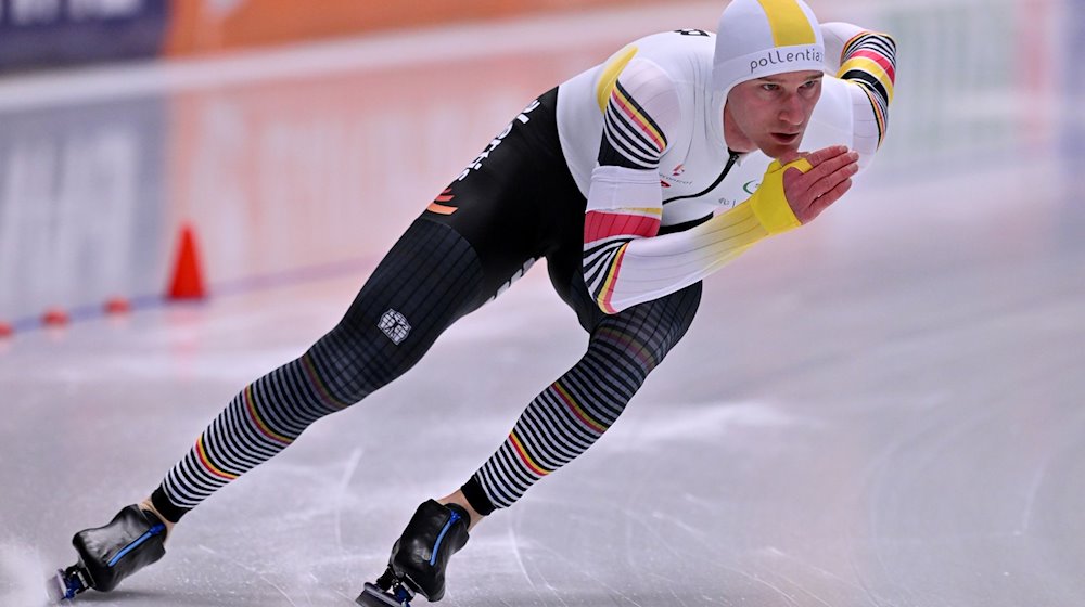
[[[824,76],[788,72],[737,85],[724,108],[728,145],[737,152],[761,150],[770,158],[797,152],[821,98]]]

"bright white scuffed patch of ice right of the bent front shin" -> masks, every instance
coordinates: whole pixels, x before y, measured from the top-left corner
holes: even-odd
[[[778,428],[807,423],[762,403],[659,405],[638,410],[622,426],[626,440],[600,442],[600,451],[644,451],[667,442],[717,440],[739,428]]]

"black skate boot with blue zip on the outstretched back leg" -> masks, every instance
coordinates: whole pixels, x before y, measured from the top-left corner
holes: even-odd
[[[94,589],[110,592],[120,580],[166,554],[166,526],[154,514],[127,506],[105,527],[85,529],[72,538],[79,561],[59,570],[49,594],[56,600]]]

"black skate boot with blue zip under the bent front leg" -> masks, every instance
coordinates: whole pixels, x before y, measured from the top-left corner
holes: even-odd
[[[441,600],[445,596],[448,559],[467,544],[470,525],[470,515],[455,504],[430,500],[419,506],[392,546],[387,570],[375,584],[366,584],[356,600],[358,605],[409,607],[414,594],[430,603]]]

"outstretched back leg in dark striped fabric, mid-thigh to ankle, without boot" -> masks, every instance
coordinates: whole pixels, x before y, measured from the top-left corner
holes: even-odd
[[[154,512],[176,522],[320,417],[401,375],[477,306],[481,281],[467,241],[447,225],[416,221],[337,326],[301,358],[246,386],[200,435],[154,491]]]

